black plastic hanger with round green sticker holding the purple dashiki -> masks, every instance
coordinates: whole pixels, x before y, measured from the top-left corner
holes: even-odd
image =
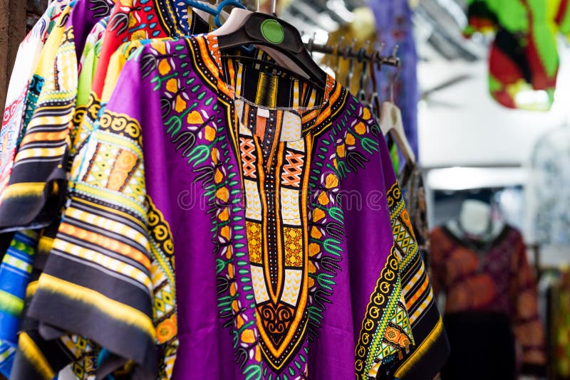
[[[244,45],[263,46],[280,66],[319,88],[326,87],[327,75],[311,58],[299,31],[275,16],[232,9],[224,25],[213,33],[218,36],[220,50]]]

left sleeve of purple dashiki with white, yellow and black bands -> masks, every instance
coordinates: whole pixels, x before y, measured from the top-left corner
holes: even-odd
[[[172,242],[170,231],[152,232],[165,225],[156,225],[146,196],[138,122],[162,122],[160,99],[145,88],[139,65],[125,64],[76,157],[68,207],[28,315],[134,361],[142,379],[169,379],[178,346],[174,272],[164,252]],[[152,302],[167,298],[159,309]]]

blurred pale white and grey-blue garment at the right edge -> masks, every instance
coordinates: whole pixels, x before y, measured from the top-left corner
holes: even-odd
[[[544,134],[535,144],[527,184],[529,241],[570,244],[570,128]]]

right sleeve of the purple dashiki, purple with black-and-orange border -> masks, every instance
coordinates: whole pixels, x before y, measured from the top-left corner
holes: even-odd
[[[378,141],[380,152],[363,154],[360,169],[357,152],[347,150],[346,164],[358,170],[341,183],[348,201],[343,209],[354,331],[360,332],[356,370],[374,379],[428,379],[445,364],[449,347],[388,147],[378,134],[368,137]]]

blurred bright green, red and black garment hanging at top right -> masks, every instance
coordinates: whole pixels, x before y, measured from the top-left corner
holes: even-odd
[[[496,31],[489,91],[510,108],[549,110],[559,67],[556,34],[570,35],[569,0],[470,0],[465,33]],[[534,90],[544,96],[533,96]]]

